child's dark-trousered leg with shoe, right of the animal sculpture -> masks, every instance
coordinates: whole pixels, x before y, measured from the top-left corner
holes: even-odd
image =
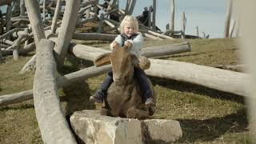
[[[150,88],[150,83],[146,78],[144,70],[134,67],[134,77],[138,80],[138,85],[142,90],[146,105],[154,105],[153,91]]]

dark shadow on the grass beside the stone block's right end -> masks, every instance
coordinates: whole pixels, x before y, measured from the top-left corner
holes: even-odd
[[[226,115],[222,118],[177,119],[182,127],[183,136],[178,142],[213,141],[223,134],[242,133],[247,129],[248,120],[246,110],[238,111],[236,114]]]

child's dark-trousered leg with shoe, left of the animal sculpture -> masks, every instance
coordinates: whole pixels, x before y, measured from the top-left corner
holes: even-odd
[[[113,81],[113,72],[110,71],[104,81],[102,82],[102,85],[98,88],[96,93],[92,96],[90,96],[90,102],[98,102],[102,103],[103,99],[106,97],[107,90],[111,86]]]

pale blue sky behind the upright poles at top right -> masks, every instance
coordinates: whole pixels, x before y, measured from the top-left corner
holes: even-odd
[[[103,2],[103,0],[100,0]],[[119,0],[120,7],[125,9],[126,0]],[[170,23],[170,0],[157,0],[156,26],[162,31]],[[145,6],[149,7],[153,0],[137,0],[134,16],[142,14]],[[186,34],[196,35],[198,26],[199,36],[202,32],[210,34],[210,38],[223,38],[226,0],[175,0],[174,30],[182,29],[182,12],[186,14]]]

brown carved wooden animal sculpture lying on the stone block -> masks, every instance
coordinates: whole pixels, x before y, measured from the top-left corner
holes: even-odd
[[[104,98],[101,114],[139,119],[153,115],[154,106],[144,104],[145,99],[137,80],[134,79],[134,61],[138,62],[138,58],[134,54],[130,54],[128,47],[115,46],[110,54],[103,54],[94,63],[97,66],[107,64],[108,58],[112,64],[114,82],[107,91],[107,97]],[[153,90],[151,82],[150,85]]]

